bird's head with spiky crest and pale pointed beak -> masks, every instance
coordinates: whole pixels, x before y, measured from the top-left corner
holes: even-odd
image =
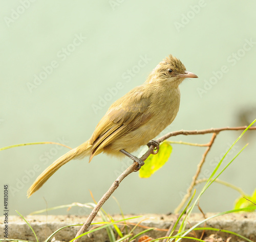
[[[169,55],[151,72],[146,83],[168,82],[170,85],[178,87],[185,78],[198,78],[198,76],[187,71],[179,59]]]

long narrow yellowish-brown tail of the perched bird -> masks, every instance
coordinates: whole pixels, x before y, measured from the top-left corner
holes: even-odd
[[[79,158],[82,158],[84,156],[90,155],[90,151],[92,145],[89,143],[89,140],[82,143],[77,148],[74,148],[73,150],[69,151],[65,155],[62,155],[57,160],[55,160],[49,167],[46,168],[42,174],[36,178],[35,182],[31,185],[31,187],[28,189],[27,196],[28,198],[37,191],[44,183],[64,164],[69,162],[70,160],[76,158],[79,156]]]

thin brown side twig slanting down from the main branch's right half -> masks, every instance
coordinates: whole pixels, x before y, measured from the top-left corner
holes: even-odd
[[[202,168],[202,165],[205,161],[205,158],[206,158],[206,155],[208,154],[208,152],[210,151],[210,148],[212,146],[212,143],[214,143],[214,140],[216,138],[217,134],[214,133],[212,134],[211,136],[211,140],[209,142],[209,146],[207,147],[207,149],[205,150],[204,154],[203,154],[203,157],[200,161],[200,163],[197,165],[197,172],[196,172],[196,175],[193,177],[192,179],[192,182],[190,184],[190,186],[188,187],[187,189],[187,193],[186,195],[184,196],[184,198],[182,199],[181,203],[178,205],[178,207],[174,210],[175,213],[178,213],[180,211],[180,209],[183,207],[183,205],[186,203],[187,199],[191,196],[191,191],[193,189],[193,187],[195,186],[196,184],[196,181],[197,181],[197,178],[199,176],[199,173],[201,172],[201,168]]]

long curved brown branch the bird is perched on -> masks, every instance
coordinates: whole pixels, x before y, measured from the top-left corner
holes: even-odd
[[[246,129],[247,126],[243,126],[243,127],[226,127],[226,128],[219,128],[219,129],[206,129],[206,130],[192,130],[192,131],[186,131],[186,130],[180,130],[180,131],[175,131],[175,132],[170,132],[167,133],[166,135],[160,137],[159,139],[157,139],[159,141],[159,143],[161,143],[162,141],[164,141],[165,139],[172,137],[172,136],[177,136],[180,134],[183,135],[193,135],[193,134],[208,134],[208,133],[219,133],[221,131],[224,130],[244,130]],[[250,130],[256,130],[256,127],[250,127]],[[154,153],[154,145],[152,145],[150,148],[148,148],[147,152],[141,157],[141,159],[143,161],[145,161],[147,159],[148,156],[150,156],[151,154]],[[209,147],[208,147],[209,148]],[[208,149],[207,148],[207,149]],[[206,153],[207,154],[207,153]],[[92,212],[90,213],[87,221],[83,224],[83,226],[80,228],[80,230],[77,232],[76,237],[85,233],[88,229],[88,227],[91,225],[92,221],[94,220],[94,217],[97,215],[98,211],[100,210],[100,208],[102,207],[102,205],[105,203],[106,200],[108,200],[110,198],[110,196],[112,195],[112,193],[117,189],[117,187],[119,186],[120,182],[129,174],[131,174],[132,172],[138,171],[138,163],[134,162],[131,166],[129,166],[117,179],[116,181],[112,184],[112,186],[110,187],[110,189],[103,195],[103,197],[100,199],[100,201],[97,203],[97,205],[95,206],[95,208],[92,210]],[[81,237],[80,237],[81,238]],[[75,242],[78,242],[80,240],[80,238],[77,238],[76,240],[74,240]]]

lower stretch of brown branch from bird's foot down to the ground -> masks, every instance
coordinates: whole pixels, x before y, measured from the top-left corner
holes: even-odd
[[[102,207],[102,205],[105,203],[106,200],[110,198],[112,193],[116,190],[116,188],[119,186],[120,182],[129,174],[133,173],[136,169],[138,169],[138,163],[134,162],[132,165],[130,165],[112,184],[110,189],[103,195],[103,197],[99,200],[97,205],[94,207],[92,212],[90,213],[88,219],[83,224],[83,226],[80,228],[80,230],[77,232],[76,237],[85,233],[88,229],[88,227],[91,225],[94,217],[97,215],[98,211]],[[74,240],[75,242],[79,241],[81,237]]]

